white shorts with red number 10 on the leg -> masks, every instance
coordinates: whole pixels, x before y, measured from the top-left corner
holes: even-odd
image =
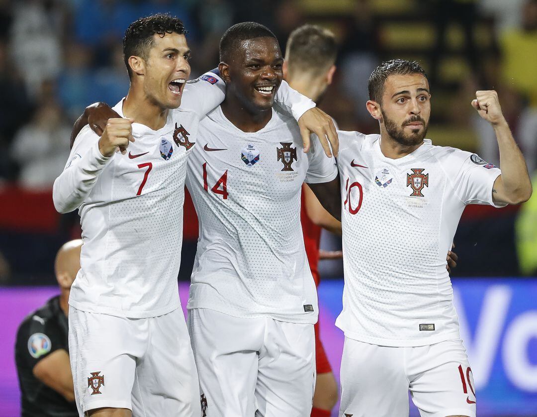
[[[474,377],[461,340],[387,347],[345,337],[339,415],[408,417],[408,391],[422,417],[475,417]]]

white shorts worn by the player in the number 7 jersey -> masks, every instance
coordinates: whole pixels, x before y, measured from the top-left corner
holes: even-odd
[[[198,374],[180,308],[129,319],[69,307],[78,413],[128,408],[135,416],[199,417]]]

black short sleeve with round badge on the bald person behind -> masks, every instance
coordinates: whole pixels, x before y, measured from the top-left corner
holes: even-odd
[[[49,319],[33,315],[17,334],[17,349],[29,368],[59,349],[67,350],[67,341]]]

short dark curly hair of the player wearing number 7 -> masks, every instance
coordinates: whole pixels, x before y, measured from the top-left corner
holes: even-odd
[[[125,38],[123,38],[123,59],[129,77],[132,77],[129,57],[140,56],[147,61],[149,51],[154,46],[153,35],[158,34],[162,38],[166,33],[184,35],[186,34],[185,26],[177,17],[157,13],[153,16],[142,17],[127,27]]]

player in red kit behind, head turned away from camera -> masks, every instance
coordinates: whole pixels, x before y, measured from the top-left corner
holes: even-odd
[[[336,71],[336,39],[332,32],[315,25],[296,28],[287,40],[284,78],[289,86],[318,103],[332,83]],[[318,262],[321,227],[341,235],[341,223],[319,203],[306,184],[302,188],[301,224],[304,246],[315,285],[319,285]],[[315,323],[315,364],[317,380],[311,417],[329,417],[337,402],[337,382],[326,357]]]

